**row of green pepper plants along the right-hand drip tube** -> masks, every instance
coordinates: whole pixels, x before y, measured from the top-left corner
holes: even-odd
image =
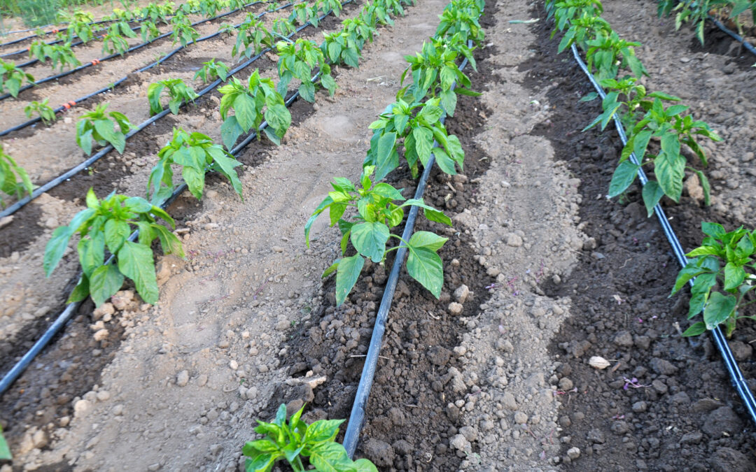
[[[677,5],[681,6],[676,8],[684,12],[696,3],[699,2],[680,2]],[[700,3],[708,5],[701,7],[708,11],[716,2]],[[598,0],[548,0],[546,6],[556,24],[552,37],[556,32],[564,32],[559,52],[572,45],[581,48],[588,69],[606,90],[603,113],[584,131],[596,125],[603,130],[618,116],[627,133],[627,144],[612,175],[608,196],[625,193],[643,167],[649,176],[642,191],[649,217],[663,196],[680,201],[686,171],[699,177],[705,204],[709,205],[708,179],[689,164],[687,156],[707,165],[708,159],[699,140],[720,141],[721,138],[705,122],[694,119],[689,107],[678,103],[680,98],[661,91],[649,92],[640,85],[641,77],[648,75],[634,54],[634,48],[640,43],[627,42],[612,30],[601,17],[603,7]],[[591,93],[581,100],[596,97],[597,94]],[[684,151],[685,148],[689,152]],[[631,154],[640,165],[631,161]],[[752,292],[756,288],[756,236],[743,227],[727,232],[714,223],[702,223],[702,230],[706,237],[701,247],[687,254],[692,260],[680,270],[672,295],[692,282],[688,318],[702,314],[702,321],[694,322],[683,335],[700,335],[723,325],[729,338],[737,319],[756,319],[742,314],[745,306],[756,301]]]

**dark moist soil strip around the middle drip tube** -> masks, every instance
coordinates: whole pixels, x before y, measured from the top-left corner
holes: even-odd
[[[466,70],[480,88],[494,77],[485,57],[488,51],[477,51],[479,72]],[[469,180],[488,169],[488,159],[473,142],[485,128],[481,114],[485,106],[475,97],[460,96],[459,100],[457,113],[446,126],[450,134],[457,134],[465,151],[465,177],[450,178],[435,167],[423,196],[450,216],[474,204],[476,186]],[[406,166],[389,174],[387,180],[404,188],[405,196],[414,194],[417,186]],[[448,199],[452,192],[447,184],[457,189]],[[434,231],[449,238],[439,251],[445,274],[441,299],[433,298],[405,269],[401,271],[356,455],[369,458],[381,470],[457,470],[461,458],[449,448],[448,441],[460,427],[460,416],[450,415],[447,405],[456,395],[451,390],[449,369],[461,370],[462,366],[452,350],[468,332],[461,317],[478,314],[478,307],[489,296],[485,286],[493,279],[474,262],[469,235],[423,217],[418,218],[415,230]],[[312,371],[326,375],[327,381],[314,392],[308,387],[281,386],[266,413],[273,415],[280,403],[287,403],[291,410],[308,403],[308,421],[349,418],[392,264],[392,257],[384,265],[367,261],[341,307],[336,307],[333,277],[324,283],[324,303],[311,311],[308,321],[297,327],[282,348],[287,351],[284,362],[291,376]],[[462,284],[476,294],[475,299],[464,304],[460,316],[452,316],[448,313],[450,294]],[[342,440],[343,430],[345,426],[337,440]]]

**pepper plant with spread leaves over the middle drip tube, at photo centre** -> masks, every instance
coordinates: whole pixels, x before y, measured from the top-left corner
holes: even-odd
[[[407,273],[438,298],[444,284],[444,269],[436,251],[444,245],[447,238],[429,231],[417,231],[409,241],[405,241],[401,236],[392,234],[390,230],[401,223],[404,219],[404,208],[410,206],[423,208],[425,217],[430,221],[451,226],[451,220],[441,211],[426,205],[422,199],[404,199],[401,192],[389,184],[373,185],[370,176],[374,171],[375,166],[365,166],[356,186],[344,177],[333,179],[333,192],[328,193],[305,224],[305,242],[308,247],[310,228],[318,215],[326,210],[329,212],[330,226],[337,224],[342,233],[342,257],[336,259],[323,273],[325,277],[336,272],[336,304],[342,304],[349,292],[352,292],[365,258],[383,263],[390,251],[400,247],[406,247],[409,251]],[[345,218],[345,212],[349,207],[357,208],[358,213]],[[389,238],[398,239],[400,245],[387,249],[386,243],[389,242]],[[346,257],[350,242],[357,253]]]

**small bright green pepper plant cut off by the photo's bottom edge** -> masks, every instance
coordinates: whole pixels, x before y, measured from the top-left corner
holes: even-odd
[[[246,456],[247,472],[268,472],[277,461],[285,459],[294,472],[308,470],[309,462],[315,470],[331,472],[377,472],[367,459],[352,461],[346,449],[336,443],[339,426],[344,420],[318,420],[308,425],[300,418],[305,407],[291,415],[288,424],[286,405],[281,404],[272,423],[257,421],[255,432],[265,439],[248,441],[242,453]],[[304,458],[304,459],[303,459]]]

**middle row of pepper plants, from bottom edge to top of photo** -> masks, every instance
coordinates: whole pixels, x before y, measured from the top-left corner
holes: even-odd
[[[478,18],[482,2],[476,0],[453,0],[442,14],[442,25],[434,37],[423,45],[417,56],[407,56],[409,63],[401,82],[411,73],[412,82],[397,94],[397,100],[386,108],[376,122],[370,125],[373,138],[365,159],[362,174],[357,183],[345,177],[335,177],[333,191],[318,205],[305,224],[305,242],[309,245],[311,224],[321,213],[328,211],[330,226],[338,225],[341,237],[342,257],[325,270],[323,276],[336,273],[336,303],[342,304],[360,276],[364,261],[383,264],[390,251],[407,248],[407,273],[429,290],[436,298],[443,285],[443,264],[438,250],[446,238],[429,231],[417,231],[408,241],[391,232],[404,220],[404,208],[423,208],[426,218],[451,226],[451,220],[441,211],[426,205],[422,199],[405,199],[401,191],[385,182],[380,182],[389,171],[398,167],[399,153],[414,169],[417,178],[417,162],[429,164],[435,155],[439,168],[447,174],[455,174],[456,166],[463,165],[463,152],[457,137],[448,135],[442,116],[451,116],[447,104],[453,110],[456,93],[474,94],[469,90],[469,79],[457,68],[457,55],[469,57],[473,66],[472,49],[467,48],[468,39],[477,46],[483,39]],[[333,36],[337,38],[337,36]],[[343,48],[350,42],[331,42]],[[357,53],[361,47],[355,46]],[[333,48],[328,57],[340,57]],[[454,72],[451,71],[454,69]],[[459,88],[452,88],[454,82]],[[446,94],[445,100],[439,95]],[[454,94],[451,98],[449,94]],[[449,160],[446,160],[446,159]],[[378,171],[380,169],[380,171]],[[376,171],[378,174],[376,174]],[[371,178],[373,177],[373,178]],[[356,208],[355,210],[349,207]],[[398,239],[398,245],[387,248],[389,239]],[[352,254],[346,256],[346,254]],[[302,407],[303,409],[304,407]],[[281,405],[274,423],[258,421],[257,433],[265,434],[262,440],[250,441],[243,447],[247,457],[247,472],[268,472],[277,461],[287,461],[293,470],[306,470],[302,456],[308,458],[315,470],[376,470],[376,467],[360,459],[352,462],[342,445],[335,442],[339,424],[343,420],[316,421],[309,427],[299,418],[302,409],[286,422],[287,409]],[[317,427],[316,427],[317,426]],[[315,428],[317,433],[310,434]],[[327,458],[324,461],[324,458]]]

